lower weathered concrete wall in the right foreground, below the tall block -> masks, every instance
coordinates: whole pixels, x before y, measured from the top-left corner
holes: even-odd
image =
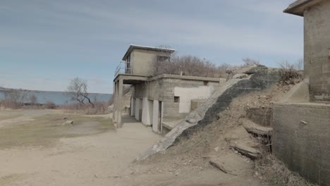
[[[330,185],[330,105],[274,103],[272,148],[288,168]]]

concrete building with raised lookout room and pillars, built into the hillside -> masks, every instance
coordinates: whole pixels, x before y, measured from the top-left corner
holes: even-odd
[[[185,75],[154,76],[155,61],[174,49],[130,45],[114,78],[114,121],[121,128],[123,85],[130,85],[130,116],[165,134],[210,97],[226,80]]]

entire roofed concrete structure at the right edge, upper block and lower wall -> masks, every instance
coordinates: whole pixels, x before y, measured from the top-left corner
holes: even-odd
[[[284,12],[304,17],[305,80],[273,105],[273,152],[308,180],[330,185],[330,1],[299,0]]]

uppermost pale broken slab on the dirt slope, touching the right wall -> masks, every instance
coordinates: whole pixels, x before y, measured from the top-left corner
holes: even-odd
[[[245,128],[245,130],[247,132],[253,133],[255,135],[270,136],[271,132],[273,131],[273,128],[257,125],[256,123],[254,123],[253,121],[251,121],[247,118],[240,118],[239,122],[243,125],[243,127]]]

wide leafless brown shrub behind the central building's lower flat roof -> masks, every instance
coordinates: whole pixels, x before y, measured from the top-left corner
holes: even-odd
[[[226,66],[228,66],[228,64],[216,67],[214,63],[197,56],[157,57],[154,63],[154,75],[173,74],[200,77],[225,77]]]

